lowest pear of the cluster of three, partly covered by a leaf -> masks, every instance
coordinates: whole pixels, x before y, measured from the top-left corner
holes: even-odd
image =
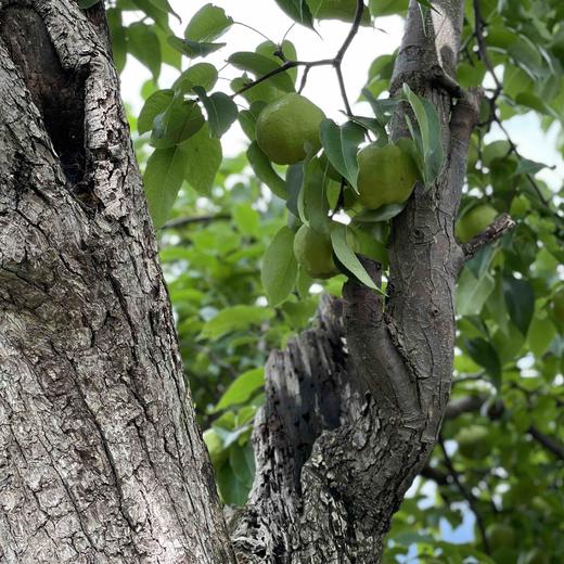
[[[294,238],[294,255],[311,278],[331,278],[338,274],[333,260],[331,239],[308,226],[302,226]]]

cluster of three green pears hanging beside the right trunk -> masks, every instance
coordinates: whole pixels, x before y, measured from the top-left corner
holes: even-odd
[[[273,163],[293,165],[321,149],[319,127],[324,118],[322,110],[307,98],[286,94],[260,112],[257,143]],[[412,157],[393,143],[363,148],[358,153],[358,166],[359,194],[352,200],[366,209],[405,202],[420,178]],[[294,253],[312,278],[325,279],[338,273],[328,234],[302,226],[294,240]]]

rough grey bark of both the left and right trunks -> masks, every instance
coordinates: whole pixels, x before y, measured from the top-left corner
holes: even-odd
[[[448,157],[394,220],[386,303],[349,281],[271,355],[229,540],[103,11],[0,0],[0,563],[380,562],[448,401],[475,119],[448,80],[463,0],[426,35],[411,4],[393,88],[435,103]]]

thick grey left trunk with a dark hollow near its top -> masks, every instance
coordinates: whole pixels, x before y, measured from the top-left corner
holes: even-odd
[[[103,18],[0,9],[0,562],[232,562]]]

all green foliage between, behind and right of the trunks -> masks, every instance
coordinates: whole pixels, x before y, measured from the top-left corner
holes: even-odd
[[[275,3],[298,24],[315,28],[311,2]],[[367,4],[376,17],[403,15],[407,8],[406,0]],[[143,17],[124,25],[124,14],[132,10]],[[107,13],[118,68],[129,53],[153,76],[143,88],[139,118],[131,117],[141,136],[136,148],[153,218],[165,226],[162,259],[219,490],[227,503],[241,504],[252,483],[249,435],[264,401],[268,351],[310,323],[317,305],[311,287],[338,295],[345,280],[339,274],[312,286],[295,262],[294,233],[302,223],[329,233],[342,271],[371,284],[347,232],[355,232],[363,254],[386,267],[388,222],[403,206],[367,211],[355,204],[358,149],[369,139],[387,144],[392,113],[408,101],[410,151],[428,184],[443,163],[436,115],[407,88],[395,100],[385,97],[395,53],[379,56],[361,97],[372,115],[350,113],[345,124],[324,120],[323,152],[280,167],[256,143],[254,130],[268,103],[299,90],[295,70],[309,67],[289,64],[300,61],[294,46],[261,43],[230,54],[229,64],[242,74],[226,93],[214,90],[218,69],[202,61],[229,46],[235,24],[221,9],[203,7],[183,37],[171,33],[175,14],[166,0],[117,0]],[[511,214],[516,228],[478,252],[460,277],[452,397],[454,402],[479,397],[480,407],[445,422],[427,472],[394,520],[386,562],[409,552],[425,562],[555,563],[564,553],[557,452],[564,439],[562,187],[549,187],[544,165],[524,158],[505,126],[513,117],[536,116],[543,131],[556,129],[556,149],[563,152],[563,20],[561,0],[466,2],[457,80],[462,88],[483,85],[486,97],[471,140],[460,215],[487,204]],[[181,60],[189,61],[188,68]],[[158,84],[164,63],[178,69],[172,85]],[[262,80],[266,75],[272,76]],[[246,108],[235,99],[246,101]],[[347,100],[344,105],[347,110]],[[226,159],[220,138],[235,119],[249,148]],[[348,227],[333,220],[343,209],[352,219]],[[475,426],[487,428],[479,445],[459,448],[466,440],[462,432]],[[467,533],[471,523],[474,534],[460,544],[443,540],[445,529],[463,520],[462,528]],[[509,525],[514,542],[490,546],[486,529],[491,524]]]

